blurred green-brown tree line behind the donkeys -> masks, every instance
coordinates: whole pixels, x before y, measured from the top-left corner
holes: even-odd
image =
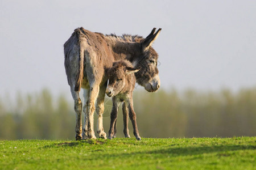
[[[103,116],[106,133],[111,109],[112,101],[106,97]],[[228,89],[218,92],[173,89],[154,93],[135,90],[134,109],[141,137],[256,135],[256,88],[238,92]],[[121,111],[119,108],[117,137],[123,137]],[[97,114],[94,114],[95,132],[96,119]],[[129,130],[134,137],[131,122]],[[0,139],[75,139],[71,95],[55,99],[44,89],[38,94],[18,93],[15,101],[0,97]]]

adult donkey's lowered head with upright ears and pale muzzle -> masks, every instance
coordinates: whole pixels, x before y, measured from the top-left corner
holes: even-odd
[[[158,75],[158,53],[152,48],[152,43],[158,37],[161,28],[155,33],[152,29],[151,33],[140,42],[141,50],[137,54],[137,58],[133,62],[135,68],[140,69],[135,73],[137,83],[145,88],[148,92],[154,92],[160,87],[160,78]]]

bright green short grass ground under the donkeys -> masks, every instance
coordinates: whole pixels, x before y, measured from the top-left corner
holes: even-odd
[[[256,137],[0,141],[0,169],[256,169]]]

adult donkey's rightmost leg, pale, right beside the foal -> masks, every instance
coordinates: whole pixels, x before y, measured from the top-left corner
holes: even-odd
[[[98,114],[98,120],[97,120],[97,133],[99,138],[106,139],[106,133],[104,132],[103,123],[102,123],[102,114],[104,112],[104,98],[105,98],[105,92],[106,92],[106,82],[103,86],[100,87],[100,92],[97,97],[96,102],[96,112]]]

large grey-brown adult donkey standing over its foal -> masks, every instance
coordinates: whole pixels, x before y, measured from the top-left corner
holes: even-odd
[[[112,67],[114,61],[128,59],[135,68],[140,70],[135,74],[137,83],[147,91],[154,92],[160,87],[158,76],[158,54],[151,47],[161,29],[155,33],[152,29],[145,39],[131,35],[103,35],[90,32],[84,28],[77,28],[64,44],[65,71],[71,94],[75,100],[76,112],[76,140],[82,138],[95,139],[93,130],[93,113],[98,114],[97,133],[100,138],[106,138],[102,125],[104,112],[104,97],[108,76],[106,70]],[[80,89],[84,88],[85,121],[82,128],[82,102],[79,96]]]

